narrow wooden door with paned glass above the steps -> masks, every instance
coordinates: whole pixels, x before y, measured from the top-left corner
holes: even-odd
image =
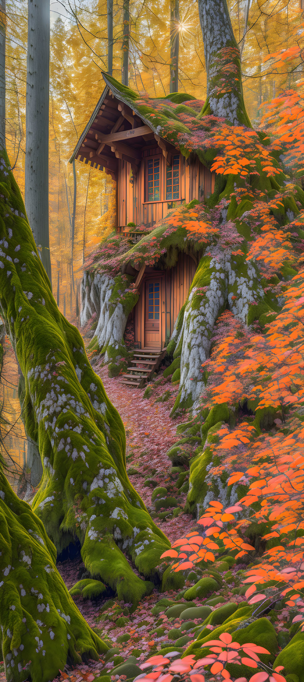
[[[146,280],[145,348],[161,349],[162,346],[161,284],[159,276]]]

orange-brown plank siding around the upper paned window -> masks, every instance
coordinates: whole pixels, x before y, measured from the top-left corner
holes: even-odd
[[[158,155],[160,158],[160,186],[162,201],[146,201],[145,196],[145,172],[146,160],[150,156]],[[192,199],[203,201],[214,190],[215,174],[201,164],[199,159],[189,162],[184,156],[180,156],[180,199],[173,201],[173,206]],[[135,225],[154,225],[158,220],[165,218],[170,210],[171,202],[165,201],[166,189],[166,161],[161,149],[151,145],[150,149],[143,151],[143,158],[137,169],[137,175],[133,175],[131,164],[118,159],[118,173],[116,183],[117,225],[124,226],[129,222]]]

